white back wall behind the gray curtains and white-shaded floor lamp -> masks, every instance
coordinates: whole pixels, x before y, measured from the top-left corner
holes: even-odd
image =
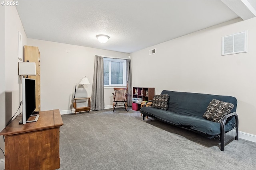
[[[64,43],[28,39],[28,45],[39,47],[41,67],[41,110],[73,109],[72,99],[76,83],[83,76],[90,85],[78,85],[76,97],[92,95],[94,56],[104,55],[128,59],[127,53],[82,47]],[[67,53],[67,49],[70,53]],[[105,106],[112,105],[108,100],[113,88],[105,89]]]

